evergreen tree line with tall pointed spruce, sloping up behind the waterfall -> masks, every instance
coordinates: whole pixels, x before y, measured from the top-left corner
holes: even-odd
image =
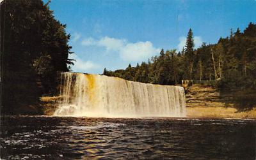
[[[256,87],[256,25],[250,22],[243,32],[237,28],[216,44],[202,43],[195,49],[189,29],[182,51],[162,49],[158,56],[126,69],[103,75],[150,84],[177,85],[182,80],[218,80],[221,89]]]

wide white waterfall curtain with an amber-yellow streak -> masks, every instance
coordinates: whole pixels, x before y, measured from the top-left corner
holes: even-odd
[[[122,78],[61,73],[57,116],[184,117],[183,87],[153,85]]]

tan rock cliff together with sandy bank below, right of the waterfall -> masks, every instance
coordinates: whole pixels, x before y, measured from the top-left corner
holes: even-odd
[[[220,89],[209,85],[194,84],[186,88],[187,116],[192,118],[236,118],[256,119],[256,106],[246,106],[253,100],[255,93],[220,92]],[[236,99],[244,103],[237,103]]]

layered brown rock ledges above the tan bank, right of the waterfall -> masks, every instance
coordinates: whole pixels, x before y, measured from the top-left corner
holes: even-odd
[[[228,94],[221,95],[218,89],[211,86],[194,84],[186,89],[186,106],[234,106],[227,103],[231,97]]]

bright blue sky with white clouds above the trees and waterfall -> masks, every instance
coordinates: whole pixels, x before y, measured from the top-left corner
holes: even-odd
[[[50,9],[71,34],[72,70],[83,73],[135,66],[161,48],[180,50],[189,28],[198,47],[256,23],[256,0],[52,0]]]

